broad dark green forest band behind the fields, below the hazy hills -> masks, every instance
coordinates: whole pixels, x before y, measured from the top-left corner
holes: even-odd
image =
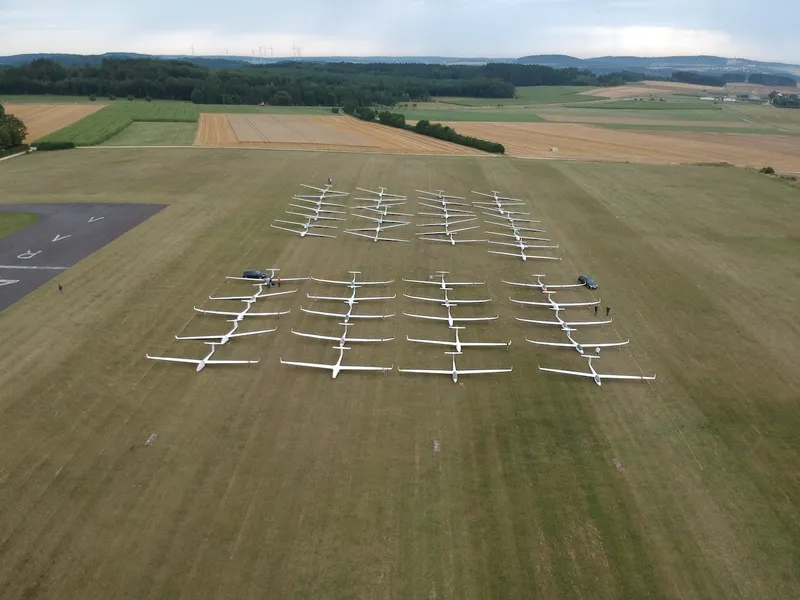
[[[187,61],[105,59],[100,65],[65,66],[48,59],[0,67],[0,93],[57,94],[187,100],[197,104],[393,106],[441,96],[513,98],[516,86],[612,86],[641,75],[593,75],[575,68],[489,63],[480,66],[421,63],[283,62],[231,69]]]

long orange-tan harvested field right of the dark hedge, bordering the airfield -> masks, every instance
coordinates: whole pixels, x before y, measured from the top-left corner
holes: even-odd
[[[447,123],[445,123],[447,124]],[[748,134],[615,131],[555,123],[457,123],[460,133],[500,142],[519,157],[583,158],[677,164],[729,162],[800,171],[800,140]],[[753,143],[761,138],[760,146]],[[741,138],[741,139],[740,139]],[[558,153],[551,148],[557,147]],[[767,149],[769,148],[769,149]]]

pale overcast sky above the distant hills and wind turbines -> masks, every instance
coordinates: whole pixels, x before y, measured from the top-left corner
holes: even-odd
[[[761,7],[769,9],[764,14]],[[714,54],[800,63],[800,0],[0,0],[0,55]],[[265,52],[269,55],[269,51]]]

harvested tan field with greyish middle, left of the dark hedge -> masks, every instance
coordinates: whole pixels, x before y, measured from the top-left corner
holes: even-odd
[[[478,150],[345,116],[200,116],[197,146],[257,146],[313,150],[482,154]]]

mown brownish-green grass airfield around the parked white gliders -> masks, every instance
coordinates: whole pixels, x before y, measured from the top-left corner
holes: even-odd
[[[35,153],[0,172],[13,202],[170,205],[59,275],[63,296],[53,282],[0,313],[3,595],[796,596],[796,187],[733,168],[197,149]],[[269,228],[299,183],[328,176],[351,192],[521,196],[563,260]],[[415,200],[403,208],[416,212]],[[447,331],[402,316],[434,312],[403,292],[436,295],[402,277],[444,269],[486,280],[451,295],[494,301],[456,314],[501,319],[468,325],[462,339],[513,344],[468,350],[459,366],[514,372],[457,385],[396,371],[332,381],[282,366],[279,356],[336,358],[332,344],[290,333],[340,329],[300,312],[306,292],[337,291],[313,282],[259,303],[290,315],[243,327],[277,332],[218,351],[259,365],[197,374],[144,358],[202,355],[173,336],[227,323],[192,306],[250,289],[225,275],[272,266],[287,277],[397,279],[386,290],[396,300],[358,308],[397,316],[351,332],[397,339],[347,356],[395,368],[447,366],[441,350],[405,342]],[[576,338],[630,337],[597,368],[658,380],[598,388],[538,372],[583,361],[527,344],[558,335],[513,320],[548,311],[512,306],[509,295],[535,295],[500,279],[537,271],[551,282],[595,277],[614,323]]]

